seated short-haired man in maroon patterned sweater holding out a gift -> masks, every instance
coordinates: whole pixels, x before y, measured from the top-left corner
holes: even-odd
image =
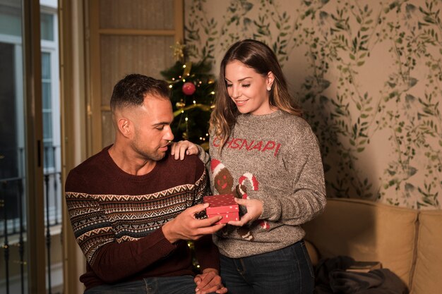
[[[73,169],[66,202],[87,271],[85,293],[227,293],[210,234],[221,217],[197,219],[208,194],[198,157],[176,161],[167,83],[131,74],[111,98],[114,144]],[[203,269],[193,277],[186,240]]]

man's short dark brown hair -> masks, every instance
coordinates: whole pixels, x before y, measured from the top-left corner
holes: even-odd
[[[169,98],[169,85],[146,75],[131,73],[117,82],[112,92],[110,106],[112,112],[117,108],[141,106],[146,95]]]

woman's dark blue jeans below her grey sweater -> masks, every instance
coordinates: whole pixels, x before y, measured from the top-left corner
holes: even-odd
[[[221,277],[229,294],[311,294],[314,274],[304,240],[244,258],[220,255]]]

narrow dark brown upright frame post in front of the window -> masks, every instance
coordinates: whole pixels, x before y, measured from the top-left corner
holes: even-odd
[[[29,293],[46,292],[44,243],[42,66],[40,1],[23,1],[23,64],[26,125],[26,207]],[[48,265],[50,266],[50,265]]]

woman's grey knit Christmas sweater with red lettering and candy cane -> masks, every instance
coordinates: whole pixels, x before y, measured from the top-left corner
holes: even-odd
[[[213,193],[263,201],[257,221],[242,228],[226,226],[214,235],[220,253],[246,257],[304,238],[300,225],[321,214],[326,203],[318,140],[308,123],[282,111],[241,114],[221,155],[219,145],[211,136]]]

